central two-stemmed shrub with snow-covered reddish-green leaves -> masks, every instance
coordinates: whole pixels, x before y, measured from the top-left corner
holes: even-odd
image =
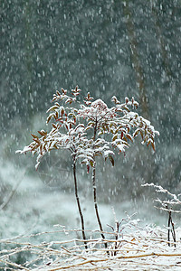
[[[82,101],[78,100],[81,89],[76,87],[71,89],[71,94],[62,89],[53,95],[53,105],[47,110],[49,116],[47,123],[52,121],[50,132],[38,131],[39,135],[33,135],[33,142],[17,153],[26,154],[31,152],[37,154],[35,168],[38,169],[43,155],[54,149],[67,149],[71,152],[75,194],[78,209],[81,215],[82,233],[84,232],[84,222],[81,212],[81,205],[78,197],[78,187],[76,180],[76,164],[79,160],[81,164],[86,164],[87,172],[92,168],[92,192],[94,207],[100,231],[103,231],[97,203],[96,189],[96,158],[102,156],[109,159],[114,165],[115,150],[118,153],[125,153],[129,148],[129,142],[133,142],[137,135],[141,135],[142,144],[151,145],[155,151],[155,136],[159,133],[151,126],[144,117],[138,116],[130,110],[137,108],[138,102],[134,98],[125,98],[124,103],[120,103],[115,96],[112,97],[112,107],[108,107],[100,98],[93,100],[90,93]],[[105,238],[101,233],[102,238]],[[83,236],[85,239],[85,236]],[[107,244],[105,244],[107,247]]]

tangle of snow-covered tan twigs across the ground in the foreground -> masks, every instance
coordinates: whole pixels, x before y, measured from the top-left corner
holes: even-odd
[[[128,219],[129,218],[129,219]],[[127,217],[118,232],[104,232],[109,246],[103,246],[98,238],[99,230],[86,230],[87,245],[83,240],[72,238],[81,230],[67,230],[57,226],[53,232],[0,240],[0,262],[3,270],[180,270],[181,229],[176,229],[176,248],[168,247],[167,229],[139,227],[138,220]],[[132,229],[132,231],[130,231]],[[35,242],[38,236],[62,234],[62,240]],[[14,248],[15,245],[15,248]],[[6,247],[3,249],[3,247]],[[13,247],[12,247],[13,246]],[[14,256],[26,253],[29,260],[15,263]],[[12,268],[12,269],[11,269]]]

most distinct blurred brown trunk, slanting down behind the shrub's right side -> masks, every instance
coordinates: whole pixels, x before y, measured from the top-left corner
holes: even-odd
[[[141,107],[141,114],[143,117],[148,118],[148,98],[146,95],[146,87],[144,81],[144,74],[142,67],[140,65],[140,61],[138,58],[138,42],[135,34],[134,23],[132,20],[131,12],[129,9],[129,0],[124,1],[123,3],[123,11],[125,17],[127,19],[127,30],[129,35],[129,43],[130,43],[130,51],[132,56],[133,68],[136,73],[137,83],[138,83],[138,90],[139,90],[139,103]]]

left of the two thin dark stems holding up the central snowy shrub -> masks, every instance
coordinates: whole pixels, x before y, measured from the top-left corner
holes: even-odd
[[[82,211],[81,211],[81,203],[80,203],[79,196],[78,196],[78,188],[77,188],[77,177],[76,177],[76,164],[75,164],[75,160],[73,160],[72,166],[73,166],[73,177],[74,177],[75,197],[76,197],[77,206],[78,206],[78,210],[79,210],[80,217],[81,217],[81,232],[82,232],[82,238],[85,240],[85,241],[84,241],[85,249],[88,249],[88,247],[87,247],[87,242],[86,242],[86,236],[85,236],[85,227],[84,227],[83,214],[82,214]]]

